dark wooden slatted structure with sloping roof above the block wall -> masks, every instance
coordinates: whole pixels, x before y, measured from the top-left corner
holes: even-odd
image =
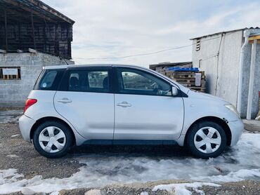
[[[74,21],[39,0],[0,0],[0,50],[71,59]]]

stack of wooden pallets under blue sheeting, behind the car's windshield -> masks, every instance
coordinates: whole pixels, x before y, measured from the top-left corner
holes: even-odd
[[[205,80],[206,76],[204,71],[173,71],[173,70],[162,70],[161,74],[168,76],[170,79],[180,83],[181,85],[197,90],[200,92],[205,91]]]

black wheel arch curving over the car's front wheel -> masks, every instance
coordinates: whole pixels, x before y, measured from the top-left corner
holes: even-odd
[[[225,133],[227,136],[227,141],[228,141],[227,145],[230,146],[231,138],[232,138],[231,130],[230,130],[228,124],[226,123],[226,121],[224,121],[223,119],[220,119],[219,117],[216,117],[216,116],[204,116],[200,119],[197,119],[195,122],[193,122],[186,132],[185,139],[184,139],[185,146],[187,145],[187,138],[188,138],[188,133],[189,133],[190,129],[193,128],[193,126],[195,126],[197,123],[200,123],[202,121],[213,121],[215,123],[218,123],[223,128],[223,130],[225,130]]]

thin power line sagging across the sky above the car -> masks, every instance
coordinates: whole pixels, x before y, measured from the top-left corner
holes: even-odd
[[[230,32],[229,34],[233,34],[234,32]],[[223,33],[222,33],[223,34]],[[222,36],[221,34],[221,36]],[[229,35],[229,34],[226,34],[226,35]],[[212,39],[219,39],[221,38],[221,36],[216,36],[214,38],[211,38],[211,39],[206,39],[206,40],[203,40],[203,41],[200,41],[200,43],[204,42],[204,41],[210,41]],[[112,59],[122,59],[122,58],[132,58],[132,57],[136,57],[136,56],[143,56],[143,55],[153,55],[153,54],[157,54],[157,53],[163,53],[165,51],[172,51],[172,50],[176,50],[176,49],[179,49],[179,48],[186,48],[186,47],[189,47],[189,46],[193,46],[197,43],[192,43],[192,44],[189,44],[189,45],[186,45],[186,46],[178,46],[178,47],[173,47],[173,48],[167,48],[167,49],[164,49],[164,50],[160,50],[160,51],[154,51],[154,52],[150,52],[150,53],[139,53],[139,54],[134,54],[134,55],[124,55],[124,56],[119,56],[119,57],[105,57],[105,58],[73,58],[73,59],[82,59],[82,60],[112,60]]]

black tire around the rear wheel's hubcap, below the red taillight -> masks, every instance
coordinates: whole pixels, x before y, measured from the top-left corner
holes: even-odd
[[[53,153],[46,152],[39,143],[39,135],[40,135],[41,131],[50,126],[59,128],[65,134],[65,145],[63,146],[63,149],[60,149],[60,151],[58,151],[58,152],[53,152]],[[71,133],[70,128],[65,126],[63,123],[56,122],[56,121],[46,121],[44,123],[41,123],[37,127],[37,129],[34,131],[33,143],[34,143],[34,147],[37,150],[37,152],[39,152],[39,154],[41,154],[42,156],[45,156],[46,158],[51,158],[51,159],[59,158],[59,157],[65,156],[65,154],[67,154],[68,150],[72,146],[72,133]]]

